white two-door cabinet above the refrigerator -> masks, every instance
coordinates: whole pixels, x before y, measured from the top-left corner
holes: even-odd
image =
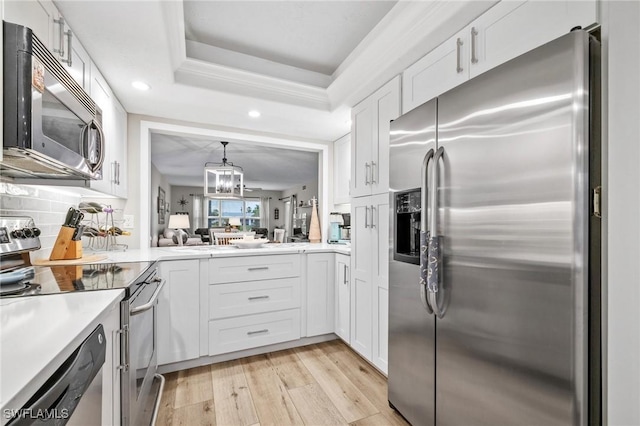
[[[501,1],[402,74],[402,111],[596,22],[596,1]]]

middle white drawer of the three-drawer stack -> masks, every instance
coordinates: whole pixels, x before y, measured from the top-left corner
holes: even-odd
[[[299,307],[299,277],[209,286],[209,319]]]

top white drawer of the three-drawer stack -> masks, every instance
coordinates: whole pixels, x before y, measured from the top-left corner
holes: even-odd
[[[300,255],[247,256],[211,259],[210,284],[270,280],[300,276]]]

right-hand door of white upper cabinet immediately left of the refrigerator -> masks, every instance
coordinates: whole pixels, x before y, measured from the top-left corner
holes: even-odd
[[[371,193],[389,191],[389,125],[400,116],[400,76],[396,76],[373,95],[376,133],[371,148]]]

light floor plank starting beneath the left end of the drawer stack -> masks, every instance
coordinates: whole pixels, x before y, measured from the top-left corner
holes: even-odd
[[[258,416],[240,361],[211,366],[216,422],[219,425],[253,425]]]

